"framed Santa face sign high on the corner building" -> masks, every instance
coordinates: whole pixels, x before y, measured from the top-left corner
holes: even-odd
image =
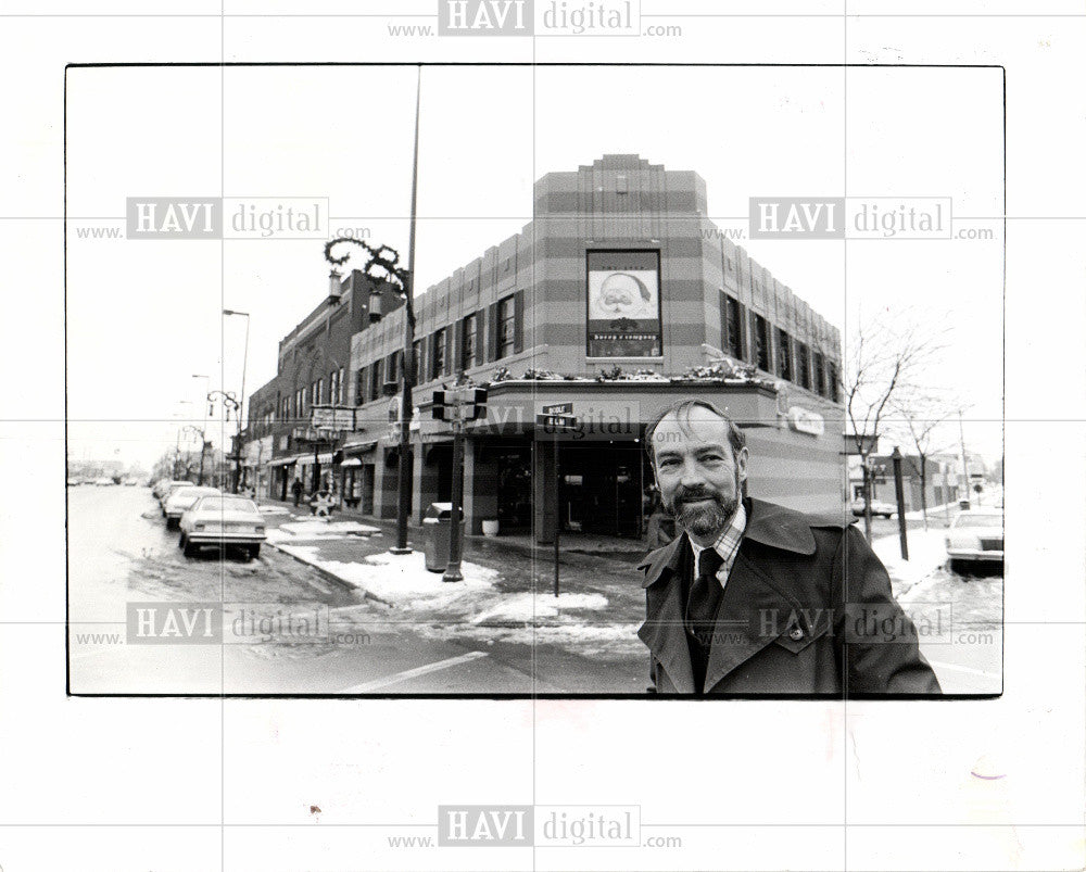
[[[660,253],[588,252],[589,357],[659,357]]]

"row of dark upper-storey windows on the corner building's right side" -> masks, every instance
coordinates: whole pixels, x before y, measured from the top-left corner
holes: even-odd
[[[820,351],[811,354],[810,347],[793,339],[786,330],[775,329],[775,343],[770,341],[770,325],[756,312],[749,313],[749,340],[744,342],[743,321],[745,307],[738,300],[721,293],[720,333],[723,351],[736,358],[754,364],[766,372],[772,372],[800,388],[815,391],[834,403],[838,402],[839,389],[837,365],[826,362]],[[749,344],[749,347],[746,347]],[[771,359],[771,349],[775,344],[776,357]]]

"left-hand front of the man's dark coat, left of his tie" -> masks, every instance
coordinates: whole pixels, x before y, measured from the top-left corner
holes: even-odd
[[[639,567],[647,570],[644,586],[648,605],[646,620],[637,630],[675,692],[685,694],[694,693],[682,619],[682,570],[687,556],[692,556],[691,547],[686,536],[680,535]]]

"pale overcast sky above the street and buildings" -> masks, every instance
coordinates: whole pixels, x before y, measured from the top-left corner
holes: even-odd
[[[414,96],[414,67],[71,71],[71,225],[118,226],[110,219],[135,195],[326,197],[333,233],[366,228],[406,261]],[[744,244],[846,343],[880,313],[922,313],[947,330],[931,381],[970,404],[967,441],[995,458],[1001,113],[998,69],[853,68],[846,99],[839,68],[426,67],[417,290],[529,222],[535,178],[605,153],[697,172],[724,227],[746,226],[750,197],[949,197],[956,229],[990,227],[995,239]],[[224,323],[224,305],[252,314],[251,393],[327,275],[319,241],[70,230],[73,457],[149,466],[174,446],[174,416],[202,421],[193,374],[240,389],[244,323]]]

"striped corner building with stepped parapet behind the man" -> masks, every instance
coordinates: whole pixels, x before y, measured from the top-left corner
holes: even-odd
[[[653,505],[645,426],[684,396],[725,407],[745,431],[752,495],[842,510],[838,331],[707,215],[696,173],[605,155],[543,176],[531,223],[417,295],[416,520],[451,496],[452,432],[430,401],[460,370],[489,383],[485,419],[466,428],[470,533],[496,519],[540,543],[555,523],[641,536]],[[361,506],[382,518],[396,511],[389,394],[403,317],[352,337],[358,429],[336,455],[356,468]],[[554,437],[536,426],[554,406],[580,422],[558,440],[557,475]]]

